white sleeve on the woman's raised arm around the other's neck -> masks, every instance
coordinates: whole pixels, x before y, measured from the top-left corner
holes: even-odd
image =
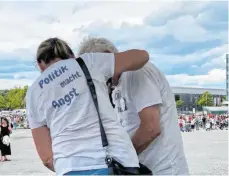
[[[80,57],[83,58],[89,68],[95,72],[100,71],[106,78],[106,81],[113,77],[115,67],[115,57],[113,53],[85,53]]]

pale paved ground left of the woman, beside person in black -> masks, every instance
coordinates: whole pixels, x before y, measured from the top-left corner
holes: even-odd
[[[37,153],[30,130],[16,130],[11,136],[12,156],[9,162],[0,162],[0,175],[47,175]]]

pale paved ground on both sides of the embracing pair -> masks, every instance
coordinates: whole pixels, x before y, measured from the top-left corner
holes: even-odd
[[[192,175],[228,175],[228,132],[183,133]],[[0,163],[0,175],[53,175],[40,162],[30,130],[16,130],[11,137],[12,161]]]

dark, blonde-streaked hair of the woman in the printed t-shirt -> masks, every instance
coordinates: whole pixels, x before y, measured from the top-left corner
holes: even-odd
[[[59,38],[49,38],[43,41],[37,49],[37,62],[50,63],[56,58],[62,60],[74,57],[74,53],[68,44]]]

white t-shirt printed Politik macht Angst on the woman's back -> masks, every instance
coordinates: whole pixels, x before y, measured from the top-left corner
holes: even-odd
[[[96,87],[109,155],[126,167],[138,167],[136,151],[126,131],[117,123],[108,96],[106,81],[114,73],[114,55],[88,53],[81,58]],[[26,102],[30,127],[50,128],[58,175],[107,168],[97,112],[85,76],[74,59],[48,67],[29,88]]]

